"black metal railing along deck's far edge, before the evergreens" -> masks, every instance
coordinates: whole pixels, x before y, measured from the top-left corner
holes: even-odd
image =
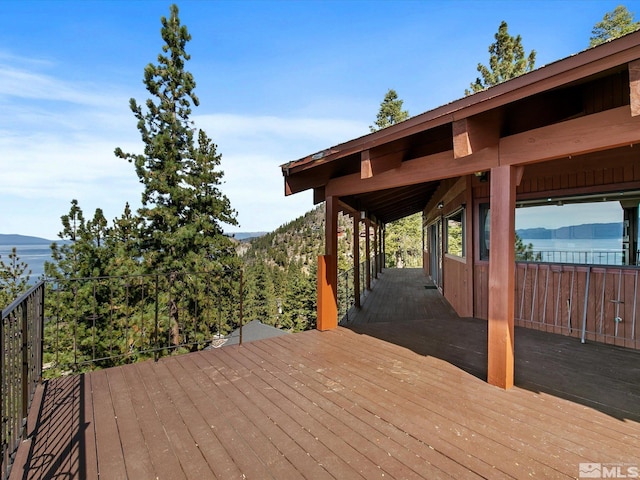
[[[47,281],[45,376],[196,351],[242,326],[242,271]]]

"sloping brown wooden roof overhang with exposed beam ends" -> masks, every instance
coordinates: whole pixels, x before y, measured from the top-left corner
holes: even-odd
[[[624,77],[621,83],[626,82],[627,90],[622,95],[627,99],[623,104],[627,109],[630,105],[635,118],[624,120],[624,128],[640,130],[636,122],[640,115],[639,59],[640,31],[289,162],[281,166],[285,194],[313,189],[316,202],[337,196],[354,209],[371,211],[385,223],[402,218],[422,210],[441,180],[499,164],[503,144],[515,151],[529,132],[564,122],[572,128],[586,128],[583,124],[593,121],[621,121],[620,112],[616,116],[585,111],[584,91],[591,85],[599,88],[599,79]],[[589,122],[581,121],[587,116]],[[620,145],[638,141],[629,132],[618,140]],[[580,147],[575,154],[587,152]],[[598,148],[604,146],[598,144],[591,151]],[[554,154],[560,158],[565,150]],[[543,159],[524,158],[522,164],[536,161]]]

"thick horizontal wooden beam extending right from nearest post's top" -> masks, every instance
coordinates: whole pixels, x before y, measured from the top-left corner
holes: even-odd
[[[500,140],[500,165],[526,165],[640,143],[640,116],[629,106],[518,133]]]

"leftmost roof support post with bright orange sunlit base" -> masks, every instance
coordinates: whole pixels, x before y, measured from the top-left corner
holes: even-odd
[[[318,330],[338,326],[338,198],[325,200],[325,255],[318,257]]]

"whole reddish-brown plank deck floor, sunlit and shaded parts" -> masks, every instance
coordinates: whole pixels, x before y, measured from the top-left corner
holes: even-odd
[[[386,321],[50,381],[11,478],[576,478],[582,462],[640,466],[637,351],[516,329],[517,386],[503,391],[484,382],[485,323],[445,315],[424,285],[385,271],[360,314],[395,289]]]

